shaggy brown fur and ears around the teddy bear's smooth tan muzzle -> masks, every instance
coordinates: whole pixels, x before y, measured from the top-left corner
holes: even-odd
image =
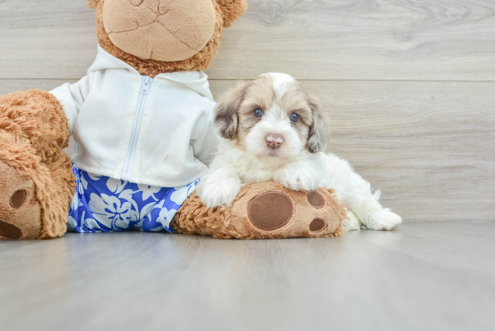
[[[102,48],[113,56],[121,59],[135,68],[141,75],[154,78],[156,75],[165,72],[205,70],[210,67],[217,55],[217,50],[222,39],[222,28],[230,24],[242,15],[248,8],[245,0],[220,1],[220,5],[213,1],[215,9],[215,27],[213,35],[203,49],[192,57],[171,62],[161,62],[156,60],[143,60],[119,49],[110,39],[104,26],[104,5],[105,0],[91,1],[90,8],[96,8],[96,36]]]

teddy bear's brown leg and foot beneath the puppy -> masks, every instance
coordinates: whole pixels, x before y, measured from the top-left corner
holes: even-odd
[[[270,199],[270,194],[275,198]],[[271,215],[263,219],[265,213]],[[226,239],[340,237],[345,232],[344,219],[344,205],[333,190],[320,188],[308,194],[271,181],[243,186],[231,207],[207,208],[193,193],[178,210],[172,226],[179,233]]]

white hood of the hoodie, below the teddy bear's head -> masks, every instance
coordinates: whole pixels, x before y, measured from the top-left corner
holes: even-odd
[[[105,51],[100,45],[98,45],[98,54],[94,59],[93,64],[88,69],[88,74],[98,70],[106,69],[124,69],[129,73],[141,76],[141,74],[124,61],[114,57],[107,51]],[[200,93],[202,96],[207,97],[213,101],[213,96],[210,91],[210,83],[208,82],[208,75],[203,71],[181,71],[181,72],[169,72],[161,73],[155,76],[154,79],[166,79],[185,85],[193,91]]]

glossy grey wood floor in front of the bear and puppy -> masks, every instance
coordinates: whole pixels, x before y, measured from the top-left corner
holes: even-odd
[[[15,330],[488,330],[495,222],[341,238],[166,233],[0,242],[0,324]]]

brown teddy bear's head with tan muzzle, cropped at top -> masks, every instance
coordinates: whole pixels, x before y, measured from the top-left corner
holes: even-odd
[[[100,46],[141,75],[207,69],[245,0],[88,0]]]

